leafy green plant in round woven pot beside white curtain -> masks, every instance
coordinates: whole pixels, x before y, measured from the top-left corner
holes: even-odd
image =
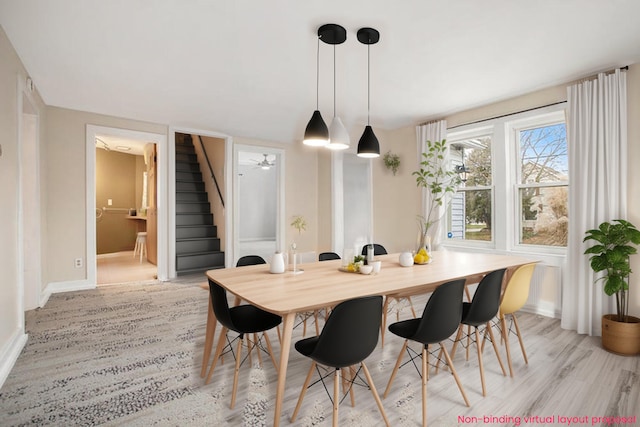
[[[639,354],[640,319],[629,316],[629,258],[638,252],[640,230],[628,221],[614,219],[588,230],[583,242],[591,240],[594,245],[584,253],[591,254],[594,272],[604,272],[596,282],[602,280],[604,292],[616,297],[616,314],[602,317],[602,346],[613,353]]]

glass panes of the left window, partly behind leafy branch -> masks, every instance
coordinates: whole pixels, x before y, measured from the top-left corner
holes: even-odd
[[[452,164],[460,170],[462,185],[448,214],[448,237],[455,240],[493,240],[491,135],[451,142]],[[464,167],[464,170],[461,168]]]

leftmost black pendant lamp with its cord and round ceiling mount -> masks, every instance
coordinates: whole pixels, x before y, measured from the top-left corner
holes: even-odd
[[[329,128],[318,109],[320,86],[320,40],[327,44],[344,43],[347,39],[347,31],[337,24],[325,24],[318,28],[318,50],[316,56],[316,110],[311,116],[304,132],[303,143],[311,146],[325,146],[329,144]]]

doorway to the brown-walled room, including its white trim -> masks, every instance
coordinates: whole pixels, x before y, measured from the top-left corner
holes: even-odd
[[[166,150],[166,135],[87,125],[89,283],[167,280]],[[134,258],[145,231],[146,253]]]

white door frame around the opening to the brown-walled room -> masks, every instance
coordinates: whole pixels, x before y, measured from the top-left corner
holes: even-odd
[[[156,144],[158,153],[157,167],[157,209],[158,209],[158,280],[169,280],[169,248],[167,241],[167,179],[169,175],[167,135],[142,132],[131,129],[121,129],[107,126],[87,125],[86,129],[86,223],[87,223],[87,251],[85,255],[87,282],[95,287],[97,284],[97,244],[96,244],[96,137],[100,135],[114,136],[125,139],[135,139]],[[175,242],[174,242],[175,245]]]

